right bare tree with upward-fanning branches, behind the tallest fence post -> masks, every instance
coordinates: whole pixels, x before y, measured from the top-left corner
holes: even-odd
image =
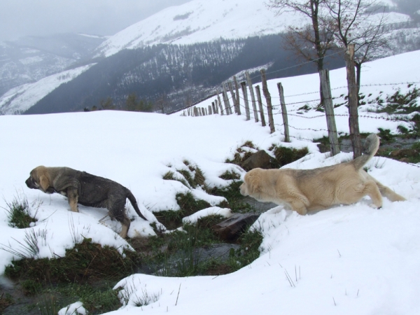
[[[385,8],[376,0],[328,0],[325,2],[335,24],[338,45],[355,45],[357,94],[362,64],[383,57],[391,49],[387,36]]]

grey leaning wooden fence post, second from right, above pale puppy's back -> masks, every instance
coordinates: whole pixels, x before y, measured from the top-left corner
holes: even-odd
[[[331,155],[339,153],[339,144],[337,137],[337,127],[335,125],[334,106],[332,105],[331,86],[330,86],[330,71],[323,69],[320,71],[323,105],[325,108],[325,116],[327,117],[328,139],[330,139]]]

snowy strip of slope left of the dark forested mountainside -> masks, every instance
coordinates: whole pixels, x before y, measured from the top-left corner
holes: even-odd
[[[39,57],[28,57],[20,60],[22,63],[33,63],[38,61]],[[73,80],[73,78],[76,78],[76,76],[79,76],[93,65],[94,64],[80,66],[76,69],[55,73],[52,76],[46,76],[35,83],[27,83],[19,85],[18,87],[13,87],[13,89],[8,90],[8,92],[0,96],[0,113],[11,115],[27,111],[27,109],[34,106],[38,101],[43,99],[43,97],[59,87],[59,85]]]

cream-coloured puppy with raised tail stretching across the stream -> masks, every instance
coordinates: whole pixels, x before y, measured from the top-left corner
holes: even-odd
[[[260,202],[288,204],[301,215],[337,204],[353,204],[365,195],[372,199],[374,208],[382,207],[382,195],[392,202],[405,200],[363,170],[378,148],[379,138],[370,134],[364,154],[351,162],[318,169],[252,169],[244,176],[241,195]]]

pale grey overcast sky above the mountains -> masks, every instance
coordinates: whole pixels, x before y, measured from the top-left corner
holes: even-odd
[[[188,1],[0,0],[0,41],[67,32],[113,35],[163,8]]]

